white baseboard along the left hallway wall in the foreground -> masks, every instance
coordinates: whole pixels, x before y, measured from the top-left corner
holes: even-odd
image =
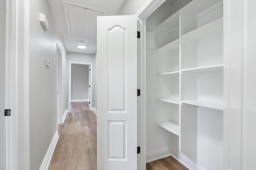
[[[58,130],[56,130],[56,132],[52,138],[52,142],[50,143],[50,146],[44,156],[44,160],[43,160],[39,170],[47,170],[48,169],[51,159],[52,159],[52,154],[54,152],[54,149],[56,147],[58,139],[59,139]]]

